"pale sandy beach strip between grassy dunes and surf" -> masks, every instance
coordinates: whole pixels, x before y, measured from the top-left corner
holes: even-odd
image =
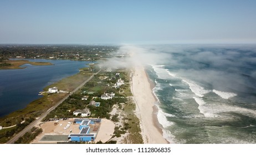
[[[162,136],[162,129],[154,113],[156,112],[155,102],[151,85],[143,66],[136,66],[132,77],[132,93],[136,102],[136,115],[141,120],[141,135],[144,143],[169,143]]]

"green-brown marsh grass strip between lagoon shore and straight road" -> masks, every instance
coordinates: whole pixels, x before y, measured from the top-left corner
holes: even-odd
[[[96,66],[91,65],[89,68],[84,68],[83,70],[81,70],[78,74],[66,77],[52,85],[45,87],[44,90],[47,91],[49,87],[58,86],[58,88],[61,90],[72,91],[76,87],[78,87],[82,82],[88,79],[96,71],[98,71],[98,68],[96,68]],[[36,117],[42,115],[43,112],[53,107],[55,104],[57,104],[58,101],[62,100],[66,95],[68,95],[68,93],[44,93],[41,98],[33,102],[30,102],[30,104],[28,104],[27,107],[18,111],[14,111],[7,116],[1,117],[0,126],[16,126],[0,130],[0,143],[7,142],[9,139],[12,138],[14,133],[20,132],[25,126],[32,122],[31,120],[34,120]],[[25,121],[24,123],[22,123],[22,126],[19,127],[18,125],[24,120],[30,121]]]

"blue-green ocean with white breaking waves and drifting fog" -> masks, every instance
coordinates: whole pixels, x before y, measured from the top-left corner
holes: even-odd
[[[158,45],[147,65],[171,143],[256,143],[256,45]]]

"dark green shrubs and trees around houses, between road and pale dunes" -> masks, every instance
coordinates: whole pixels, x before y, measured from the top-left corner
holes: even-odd
[[[74,117],[73,111],[84,108],[90,109],[91,117],[110,119],[109,112],[112,106],[118,103],[126,103],[127,99],[125,96],[119,94],[117,89],[112,87],[111,84],[114,84],[116,80],[111,81],[110,78],[100,80],[101,77],[109,77],[106,76],[109,74],[105,74],[104,71],[102,71],[98,75],[95,75],[93,79],[87,82],[81,89],[76,91],[73,95],[70,95],[68,99],[63,101],[55,110],[51,111],[44,120],[47,121],[49,118]],[[114,73],[111,74],[115,75]],[[100,96],[103,95],[104,92],[115,93],[116,97],[111,100],[100,99]],[[88,99],[81,100],[85,95],[89,96]],[[91,100],[100,102],[100,106],[89,105]]]

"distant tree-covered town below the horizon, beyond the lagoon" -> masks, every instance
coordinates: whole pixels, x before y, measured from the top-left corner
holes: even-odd
[[[1,44],[0,63],[8,59],[67,59],[95,61],[113,56],[118,46]]]

